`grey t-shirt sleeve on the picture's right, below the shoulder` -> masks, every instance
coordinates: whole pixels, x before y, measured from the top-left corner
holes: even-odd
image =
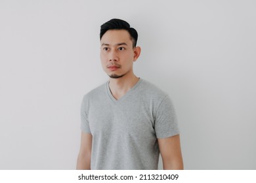
[[[158,139],[172,137],[180,133],[175,109],[168,95],[163,98],[158,107],[154,127]]]

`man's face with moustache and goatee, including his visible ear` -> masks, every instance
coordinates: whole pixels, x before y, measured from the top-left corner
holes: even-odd
[[[139,57],[126,30],[108,30],[100,41],[102,67],[110,78],[133,75],[133,61]]]

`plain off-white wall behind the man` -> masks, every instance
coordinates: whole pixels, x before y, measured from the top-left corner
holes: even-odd
[[[139,32],[135,74],[169,93],[185,169],[256,169],[255,1],[0,0],[0,169],[75,169],[100,25]],[[160,163],[161,167],[161,163]]]

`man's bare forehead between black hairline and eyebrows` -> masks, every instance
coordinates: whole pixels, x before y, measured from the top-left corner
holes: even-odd
[[[132,44],[131,36],[126,30],[108,30],[102,36],[100,43],[104,44],[118,44],[125,42],[126,44]]]

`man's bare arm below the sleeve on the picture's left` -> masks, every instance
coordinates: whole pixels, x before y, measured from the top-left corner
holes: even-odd
[[[81,133],[81,146],[77,158],[77,170],[91,169],[91,146],[93,136],[90,133]]]

